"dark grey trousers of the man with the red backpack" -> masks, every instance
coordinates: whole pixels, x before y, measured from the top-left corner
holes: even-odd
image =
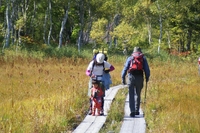
[[[128,74],[127,84],[129,88],[129,107],[131,112],[139,112],[143,82],[143,75]]]

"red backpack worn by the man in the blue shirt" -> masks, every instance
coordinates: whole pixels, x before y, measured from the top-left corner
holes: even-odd
[[[143,54],[141,52],[134,52],[129,67],[129,72],[136,70],[143,70]]]

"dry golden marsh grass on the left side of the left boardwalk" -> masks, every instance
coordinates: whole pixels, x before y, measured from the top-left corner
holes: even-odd
[[[75,128],[89,107],[88,59],[1,59],[0,132],[61,132]],[[120,69],[111,73],[119,84]],[[118,78],[118,80],[117,80]]]

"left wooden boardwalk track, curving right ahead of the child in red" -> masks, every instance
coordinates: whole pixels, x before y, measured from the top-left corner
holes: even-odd
[[[73,133],[98,133],[106,121],[107,112],[110,109],[110,105],[117,91],[124,87],[126,86],[118,85],[110,87],[109,90],[106,90],[106,95],[104,97],[104,116],[87,115],[81,124],[73,131]]]

